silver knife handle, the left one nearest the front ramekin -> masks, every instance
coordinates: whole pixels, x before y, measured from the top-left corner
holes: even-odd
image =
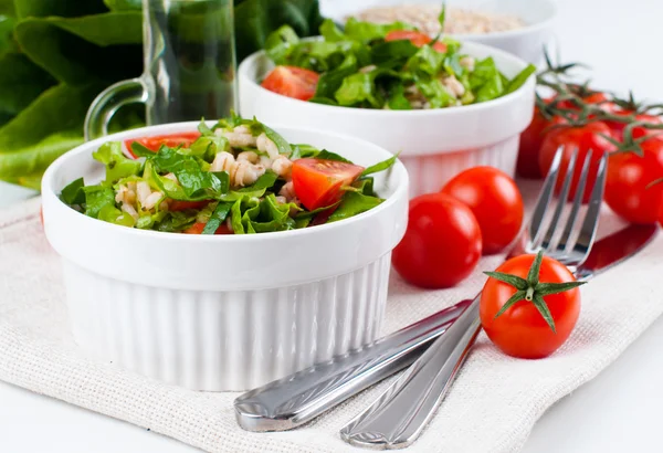
[[[412,364],[470,303],[462,301],[361,349],[242,394],[234,401],[238,423],[244,430],[264,432],[308,422]]]

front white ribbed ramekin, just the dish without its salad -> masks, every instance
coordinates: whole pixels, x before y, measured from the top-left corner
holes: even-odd
[[[387,299],[391,250],[404,234],[408,175],[376,179],[379,207],[326,225],[251,235],[141,231],[87,218],[57,194],[107,140],[194,130],[154,126],[87,143],[42,183],[46,238],[62,256],[71,326],[94,357],[196,390],[245,390],[372,341]],[[274,126],[292,143],[368,166],[382,148]]]

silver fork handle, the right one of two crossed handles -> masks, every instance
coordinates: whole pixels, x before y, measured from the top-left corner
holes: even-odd
[[[481,330],[477,296],[446,333],[365,412],[341,429],[346,442],[369,449],[410,445],[442,403]]]

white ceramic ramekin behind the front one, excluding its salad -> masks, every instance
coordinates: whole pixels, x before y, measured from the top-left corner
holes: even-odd
[[[526,63],[506,52],[464,43],[477,59],[493,56],[508,77]],[[259,82],[273,67],[264,52],[239,69],[242,115],[313,129],[328,129],[375,143],[400,158],[410,172],[410,196],[434,192],[459,172],[488,165],[514,176],[518,136],[532,122],[535,77],[514,93],[486,103],[429,110],[376,110],[293,99],[264,89]]]

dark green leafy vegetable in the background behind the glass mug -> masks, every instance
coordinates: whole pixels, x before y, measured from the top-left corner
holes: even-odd
[[[191,10],[204,9],[203,2],[188,3]],[[0,1],[0,14],[6,14],[0,15],[0,179],[39,187],[43,170],[83,141],[83,122],[94,97],[141,73],[141,4],[140,0]],[[315,0],[234,4],[238,61],[262,49],[266,36],[282,25],[291,27],[290,38],[294,34],[298,41],[297,35],[316,34],[322,23]],[[173,27],[186,39],[209,35],[209,27],[193,27],[194,20]],[[220,15],[219,21],[223,23]],[[136,106],[123,108],[110,130],[143,125],[141,112]]]

